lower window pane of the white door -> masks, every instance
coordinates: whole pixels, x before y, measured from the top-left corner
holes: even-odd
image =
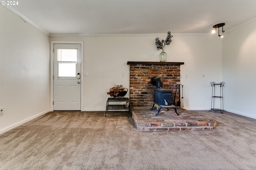
[[[76,63],[58,63],[58,77],[76,77]]]

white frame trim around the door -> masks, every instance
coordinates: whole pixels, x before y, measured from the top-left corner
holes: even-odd
[[[84,42],[83,41],[51,41],[51,47],[50,47],[50,110],[53,111],[53,76],[54,76],[54,44],[80,44],[81,45],[81,111],[84,111]]]

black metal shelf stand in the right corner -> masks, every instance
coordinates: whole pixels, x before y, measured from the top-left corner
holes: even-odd
[[[209,111],[220,111],[220,113],[223,114],[224,108],[223,108],[223,86],[224,86],[225,82],[220,82],[219,84],[216,84],[215,82],[211,82],[211,86],[212,86],[212,104],[211,104],[211,109]],[[219,86],[220,88],[220,96],[216,96],[215,95],[215,87]],[[214,108],[215,106],[215,98],[220,98],[220,109],[216,109]]]

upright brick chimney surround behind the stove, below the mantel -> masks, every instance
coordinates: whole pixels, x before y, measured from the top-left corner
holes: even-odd
[[[160,77],[163,88],[171,89],[174,94],[180,84],[180,64],[130,64],[130,101],[132,107],[152,107],[154,89],[150,79]],[[179,100],[177,89],[175,105]]]

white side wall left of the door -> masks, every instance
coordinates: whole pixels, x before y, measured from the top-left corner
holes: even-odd
[[[50,110],[49,37],[0,6],[0,133]]]

